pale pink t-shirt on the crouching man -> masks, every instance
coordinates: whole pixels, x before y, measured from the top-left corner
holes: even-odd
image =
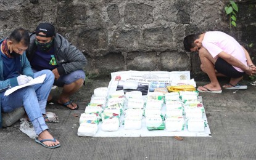
[[[226,33],[221,31],[208,31],[204,34],[202,45],[210,52],[213,58],[218,58],[218,54],[224,51],[247,66],[244,49],[242,49],[236,39]],[[236,66],[234,66],[234,68],[237,71],[244,72]]]

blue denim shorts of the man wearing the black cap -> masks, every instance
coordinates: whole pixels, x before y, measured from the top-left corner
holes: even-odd
[[[63,87],[65,84],[71,84],[72,82],[77,81],[78,79],[85,80],[85,71],[76,70],[68,74],[63,74],[59,79],[55,80],[53,85],[58,87]]]

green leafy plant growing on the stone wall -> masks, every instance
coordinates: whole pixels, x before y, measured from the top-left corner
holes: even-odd
[[[229,15],[229,28],[231,30],[231,25],[236,27],[236,13],[238,12],[237,4],[234,1],[229,1],[228,6],[225,7],[225,11],[226,15]]]

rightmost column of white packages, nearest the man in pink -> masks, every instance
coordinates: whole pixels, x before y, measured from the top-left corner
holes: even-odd
[[[186,126],[189,132],[204,132],[207,122],[203,119],[204,106],[198,101],[198,92],[180,92],[184,103]]]

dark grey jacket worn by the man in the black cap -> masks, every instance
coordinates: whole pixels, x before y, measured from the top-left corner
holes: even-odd
[[[30,46],[27,49],[29,61],[31,61],[36,51],[35,38],[35,33],[30,35]],[[58,33],[54,36],[54,56],[60,75],[83,69],[83,66],[87,64],[85,55]]]

